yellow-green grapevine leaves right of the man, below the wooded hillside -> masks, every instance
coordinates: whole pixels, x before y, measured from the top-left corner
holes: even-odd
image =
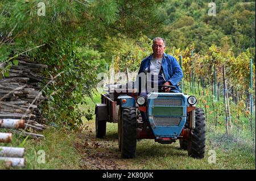
[[[191,57],[193,46],[185,50],[183,49],[167,49],[167,52],[174,55],[179,60],[179,55],[183,57],[184,77],[192,75],[192,61],[194,65],[194,73],[200,79],[212,82],[214,65],[216,65],[216,81],[222,82],[222,65],[225,65],[225,73],[229,82],[237,85],[240,89],[247,90],[250,84],[250,57],[252,56],[249,49],[235,56],[232,49],[226,47],[217,47],[212,45],[205,54],[196,53]],[[255,74],[255,65],[253,65],[253,75]],[[255,77],[253,76],[253,82]],[[253,87],[255,83],[253,83]],[[255,89],[254,89],[255,90]]]

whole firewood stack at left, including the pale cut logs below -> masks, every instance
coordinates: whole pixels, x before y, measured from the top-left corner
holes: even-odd
[[[0,132],[1,128],[9,132],[0,133],[0,142],[10,142],[12,134],[44,138],[35,131],[46,128],[46,119],[42,117],[38,106],[47,99],[42,95],[43,87],[39,85],[39,82],[50,81],[39,75],[47,65],[34,64],[26,57],[16,59],[18,65],[12,65],[9,76],[0,79]],[[2,63],[0,68],[5,66]],[[23,155],[23,148],[0,146],[0,161],[6,161],[11,166],[24,166]]]

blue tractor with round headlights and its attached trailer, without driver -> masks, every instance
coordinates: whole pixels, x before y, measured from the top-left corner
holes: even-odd
[[[204,158],[205,115],[196,107],[195,96],[151,92],[138,96],[133,91],[109,85],[96,104],[96,137],[106,134],[106,122],[118,123],[118,147],[122,158],[135,158],[137,140],[154,139],[160,144],[179,140],[188,156]],[[170,86],[171,87],[171,86]],[[142,119],[144,112],[146,119]]]

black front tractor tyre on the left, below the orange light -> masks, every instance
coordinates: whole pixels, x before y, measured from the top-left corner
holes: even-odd
[[[121,157],[135,158],[137,146],[136,108],[123,108],[121,120]]]

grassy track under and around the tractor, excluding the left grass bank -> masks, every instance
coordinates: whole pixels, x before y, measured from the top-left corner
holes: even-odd
[[[81,142],[77,143],[82,169],[255,169],[255,149],[230,144],[217,137],[208,137],[204,159],[189,158],[187,151],[179,148],[179,141],[161,145],[154,140],[138,141],[137,158],[121,159],[117,124],[108,123],[106,136],[102,139],[95,137],[94,120],[86,124],[88,129],[79,135]],[[208,159],[213,160],[209,150],[215,151],[216,163],[208,162]]]

